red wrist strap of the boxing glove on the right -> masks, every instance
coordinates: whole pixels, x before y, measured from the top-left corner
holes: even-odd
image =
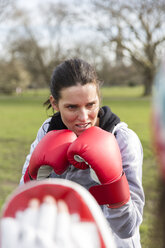
[[[129,185],[124,172],[119,180],[92,186],[89,191],[99,205],[107,204],[110,208],[121,207],[130,198]]]

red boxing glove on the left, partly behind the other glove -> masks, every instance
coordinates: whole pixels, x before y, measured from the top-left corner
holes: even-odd
[[[76,138],[76,134],[68,129],[48,132],[32,153],[24,175],[24,182],[36,179],[42,165],[49,165],[56,174],[62,174],[69,165],[68,147]]]

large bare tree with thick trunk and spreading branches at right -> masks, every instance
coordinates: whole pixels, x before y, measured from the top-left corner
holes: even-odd
[[[143,76],[144,95],[152,91],[153,77],[165,42],[163,0],[93,0],[97,29],[109,46],[115,43],[120,56],[129,58]]]

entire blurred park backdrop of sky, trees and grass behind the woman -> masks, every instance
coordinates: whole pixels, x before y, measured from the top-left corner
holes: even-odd
[[[0,206],[19,184],[38,128],[51,113],[54,67],[80,57],[95,66],[103,104],[128,123],[144,149],[142,247],[154,233],[160,186],[152,148],[152,86],[165,52],[164,0],[0,0]],[[151,237],[153,242],[150,242]]]

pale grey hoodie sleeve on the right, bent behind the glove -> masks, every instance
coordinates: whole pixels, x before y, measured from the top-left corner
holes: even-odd
[[[130,200],[117,209],[105,208],[104,213],[112,230],[122,239],[132,237],[142,222],[144,192],[142,187],[143,150],[138,136],[126,124],[119,124],[116,139],[122,155],[123,170],[126,174]]]

